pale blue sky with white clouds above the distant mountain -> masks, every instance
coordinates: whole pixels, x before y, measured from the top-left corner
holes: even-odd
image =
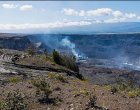
[[[139,1],[0,2],[0,31],[140,22]]]

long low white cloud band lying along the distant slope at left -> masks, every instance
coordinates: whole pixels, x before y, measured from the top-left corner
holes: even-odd
[[[44,24],[0,24],[0,30],[24,30],[24,29],[50,29],[69,26],[85,26],[90,25],[88,21],[69,21],[69,22],[53,22]]]

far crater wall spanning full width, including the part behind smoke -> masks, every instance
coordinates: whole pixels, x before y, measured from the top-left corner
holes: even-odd
[[[30,43],[41,43],[40,48],[75,50],[89,58],[110,59],[120,56],[139,57],[140,34],[94,34],[94,35],[49,35],[49,34],[0,34],[0,45],[9,49],[24,50]],[[67,40],[67,39],[68,40]],[[66,41],[65,44],[62,41]],[[69,48],[65,48],[68,47]]]

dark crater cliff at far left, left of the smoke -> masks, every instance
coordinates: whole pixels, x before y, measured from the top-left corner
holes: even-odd
[[[30,44],[30,40],[25,37],[0,37],[0,45],[3,48],[25,50]]]

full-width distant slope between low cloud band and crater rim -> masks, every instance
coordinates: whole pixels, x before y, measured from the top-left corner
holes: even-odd
[[[95,34],[95,33],[139,33],[140,22],[117,22],[117,23],[95,23],[89,22],[88,25],[60,26],[53,28],[31,28],[31,29],[13,29],[1,30],[7,33],[26,33],[26,34]]]

